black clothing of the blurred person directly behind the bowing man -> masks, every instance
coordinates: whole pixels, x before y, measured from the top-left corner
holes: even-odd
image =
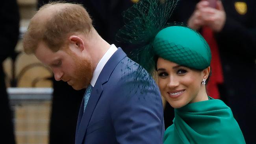
[[[122,11],[132,6],[130,0],[66,0],[82,4],[93,20],[93,26],[108,43],[121,46],[129,52],[130,46],[115,41],[117,31],[124,25]],[[49,0],[39,0],[38,6]],[[53,78],[50,144],[74,144],[79,107],[85,90],[74,90],[63,81]]]

